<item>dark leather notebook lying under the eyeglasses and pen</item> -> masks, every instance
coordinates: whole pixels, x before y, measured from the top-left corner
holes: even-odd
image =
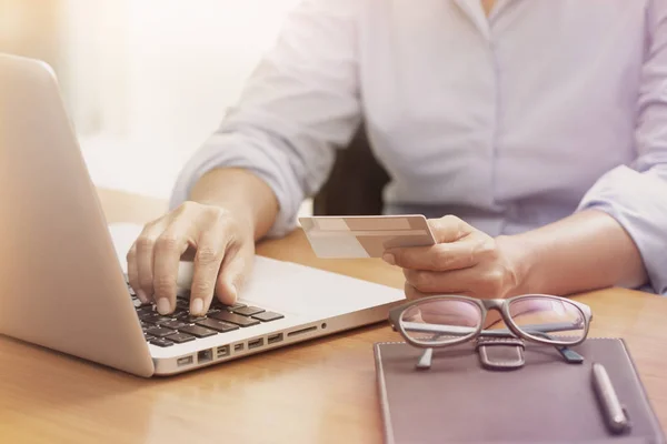
[[[429,370],[415,367],[421,350],[375,344],[385,442],[417,443],[665,443],[621,339],[589,337],[569,364],[548,345],[526,343],[524,366],[489,370],[475,344],[435,350]],[[630,430],[615,435],[591,383],[605,366]]]

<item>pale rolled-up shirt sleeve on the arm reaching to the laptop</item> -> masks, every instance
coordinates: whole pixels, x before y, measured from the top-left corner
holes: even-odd
[[[219,129],[180,172],[170,200],[186,201],[217,168],[242,168],[272,189],[280,211],[269,236],[296,226],[299,206],[327,179],[336,149],[360,122],[356,19],[359,0],[307,0],[282,31]]]

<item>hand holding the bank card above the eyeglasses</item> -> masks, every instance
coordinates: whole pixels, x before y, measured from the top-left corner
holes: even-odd
[[[388,249],[382,258],[404,269],[408,299],[429,293],[479,299],[518,293],[519,254],[509,239],[494,239],[452,215],[428,223],[435,245]]]

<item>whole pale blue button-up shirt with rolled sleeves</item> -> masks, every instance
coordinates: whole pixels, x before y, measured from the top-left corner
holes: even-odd
[[[275,191],[293,229],[364,120],[386,212],[491,235],[583,209],[616,218],[667,294],[667,1],[310,0],[192,157],[171,205],[219,167]]]

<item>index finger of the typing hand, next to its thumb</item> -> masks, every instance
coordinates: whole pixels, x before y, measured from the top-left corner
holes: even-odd
[[[206,230],[197,241],[190,291],[190,313],[193,315],[206,314],[213,299],[218,272],[229,242],[223,233],[220,228]]]

